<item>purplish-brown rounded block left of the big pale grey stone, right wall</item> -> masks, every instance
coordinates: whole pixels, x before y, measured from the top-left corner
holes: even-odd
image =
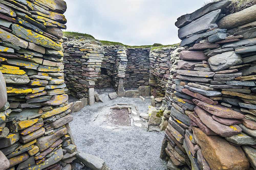
[[[182,60],[208,60],[208,56],[205,55],[202,51],[181,51],[179,53],[179,58]]]

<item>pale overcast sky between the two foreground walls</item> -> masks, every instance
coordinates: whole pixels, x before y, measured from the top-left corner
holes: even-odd
[[[176,44],[177,18],[207,0],[65,0],[67,31],[126,45]]]

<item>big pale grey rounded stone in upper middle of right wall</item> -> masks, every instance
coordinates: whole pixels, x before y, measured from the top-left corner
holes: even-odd
[[[209,65],[212,71],[221,71],[225,70],[231,66],[235,66],[243,63],[242,58],[239,54],[236,54],[234,51],[229,51],[222,54],[217,54],[208,59]]]

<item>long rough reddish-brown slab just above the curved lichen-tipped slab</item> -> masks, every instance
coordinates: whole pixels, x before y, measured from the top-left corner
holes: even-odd
[[[235,93],[235,92],[232,92]],[[193,99],[193,102],[199,106],[200,108],[204,109],[205,111],[218,116],[218,117],[223,117],[223,118],[232,118],[232,119],[244,119],[245,115],[233,111],[230,108],[220,106],[220,105],[213,105],[211,106],[210,104],[207,104],[205,102],[202,102],[198,99]]]

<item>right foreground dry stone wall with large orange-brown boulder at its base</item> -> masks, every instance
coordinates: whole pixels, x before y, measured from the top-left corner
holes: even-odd
[[[168,78],[161,124],[169,169],[256,169],[256,5],[221,14],[230,3],[175,23],[185,48]]]

